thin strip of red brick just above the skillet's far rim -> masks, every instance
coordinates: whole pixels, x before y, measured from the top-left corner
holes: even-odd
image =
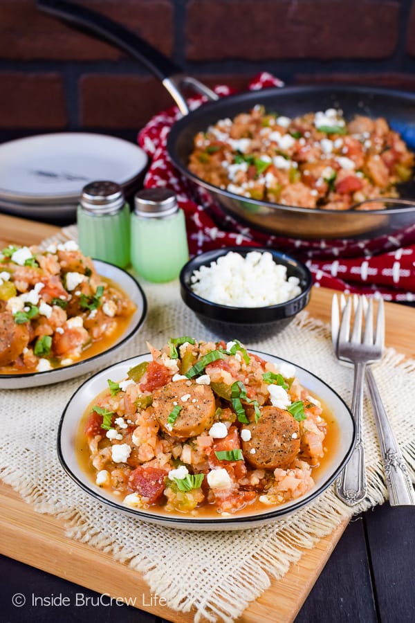
[[[415,75],[409,73],[298,73],[295,84],[367,84],[370,87],[390,87],[415,91]]]

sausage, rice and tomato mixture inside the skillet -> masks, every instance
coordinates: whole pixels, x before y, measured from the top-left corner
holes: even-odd
[[[348,210],[398,197],[414,154],[383,118],[329,109],[293,119],[255,106],[196,134],[189,169],[214,186],[259,201]],[[361,209],[385,208],[382,202]]]

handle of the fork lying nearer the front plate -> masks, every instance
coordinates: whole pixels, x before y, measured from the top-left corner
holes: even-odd
[[[338,497],[348,506],[355,506],[366,497],[365,448],[362,440],[363,383],[365,363],[355,363],[351,412],[356,424],[356,446],[351,458],[335,483]]]

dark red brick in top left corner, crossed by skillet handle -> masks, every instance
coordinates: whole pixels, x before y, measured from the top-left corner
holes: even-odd
[[[170,55],[173,8],[169,0],[80,0],[120,21],[147,42]],[[0,58],[12,60],[117,59],[118,49],[69,28],[36,9],[34,0],[1,0]]]

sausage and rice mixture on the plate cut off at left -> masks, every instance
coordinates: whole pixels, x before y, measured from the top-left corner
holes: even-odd
[[[45,372],[102,352],[135,306],[76,242],[0,251],[0,374]]]

